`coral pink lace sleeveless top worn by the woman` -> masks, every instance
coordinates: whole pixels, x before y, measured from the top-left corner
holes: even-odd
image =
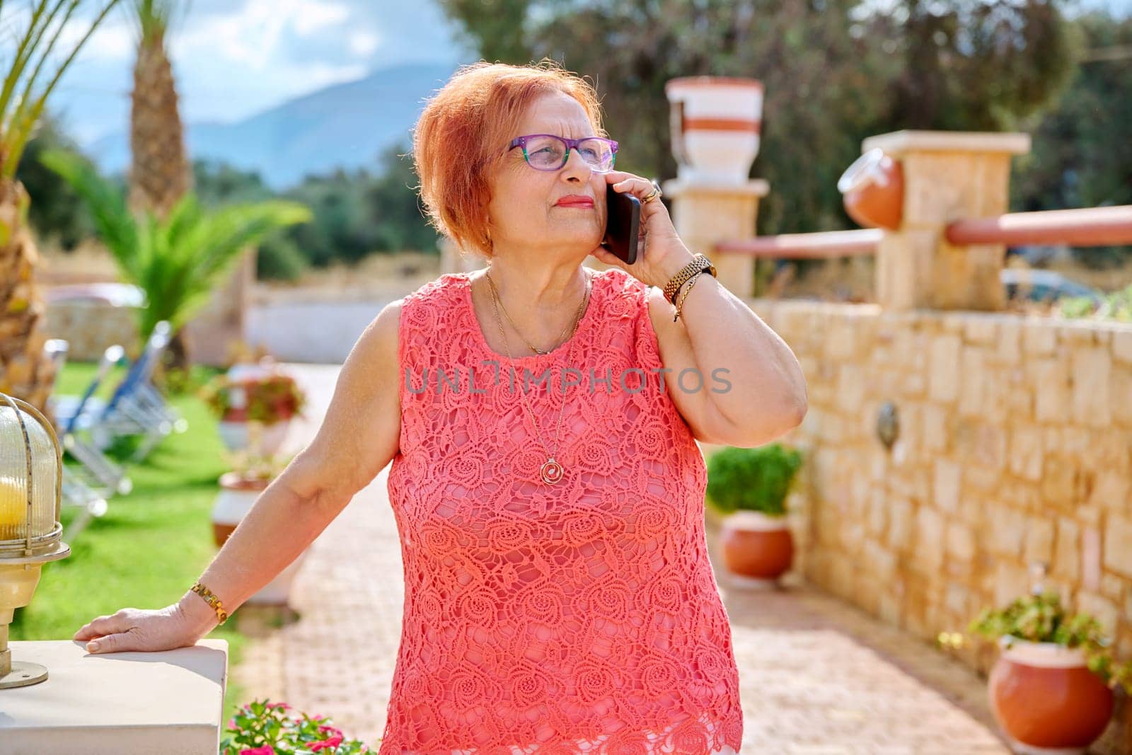
[[[648,292],[597,273],[569,340],[514,360],[484,340],[470,274],[403,300],[388,491],[405,595],[379,755],[739,750],[706,469],[661,388]],[[554,451],[564,367],[549,484],[518,392],[526,370]]]

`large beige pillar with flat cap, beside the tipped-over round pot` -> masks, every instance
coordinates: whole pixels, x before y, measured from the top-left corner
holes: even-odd
[[[903,169],[903,217],[876,255],[876,298],[885,309],[997,310],[1005,247],[947,243],[952,221],[1007,211],[1010,158],[1030,151],[1027,134],[894,131],[873,136]]]

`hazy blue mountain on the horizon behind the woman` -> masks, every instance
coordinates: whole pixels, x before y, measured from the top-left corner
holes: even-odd
[[[189,123],[189,154],[258,171],[285,189],[309,173],[375,165],[395,143],[408,151],[424,101],[444,86],[457,63],[408,63],[335,84],[233,123]],[[105,173],[129,165],[129,136],[112,134],[89,149]]]

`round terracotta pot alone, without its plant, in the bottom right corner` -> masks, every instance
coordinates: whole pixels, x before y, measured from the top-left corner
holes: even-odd
[[[1011,748],[1023,755],[1084,753],[1113,714],[1113,690],[1088,669],[1084,653],[1013,637],[1000,645],[988,681],[990,710]]]

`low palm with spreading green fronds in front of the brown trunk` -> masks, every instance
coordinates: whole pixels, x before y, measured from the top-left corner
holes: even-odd
[[[273,231],[311,218],[305,205],[282,200],[206,209],[191,191],[165,217],[152,211],[136,213],[84,157],[49,149],[40,160],[75,187],[122,278],[145,292],[138,321],[143,342],[161,320],[169,320],[177,332],[191,319],[243,249]]]

